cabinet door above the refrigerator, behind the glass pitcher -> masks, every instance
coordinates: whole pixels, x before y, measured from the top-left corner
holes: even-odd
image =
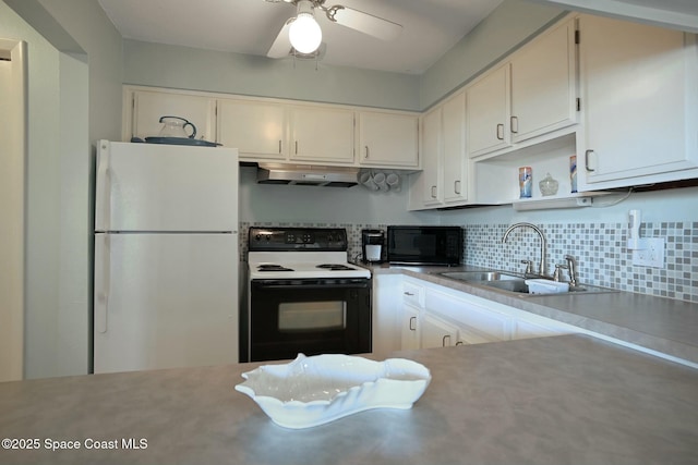
[[[197,139],[216,140],[216,100],[213,98],[147,90],[133,93],[132,137],[159,135],[160,117],[183,118],[196,126]],[[188,132],[190,130],[186,127]]]

